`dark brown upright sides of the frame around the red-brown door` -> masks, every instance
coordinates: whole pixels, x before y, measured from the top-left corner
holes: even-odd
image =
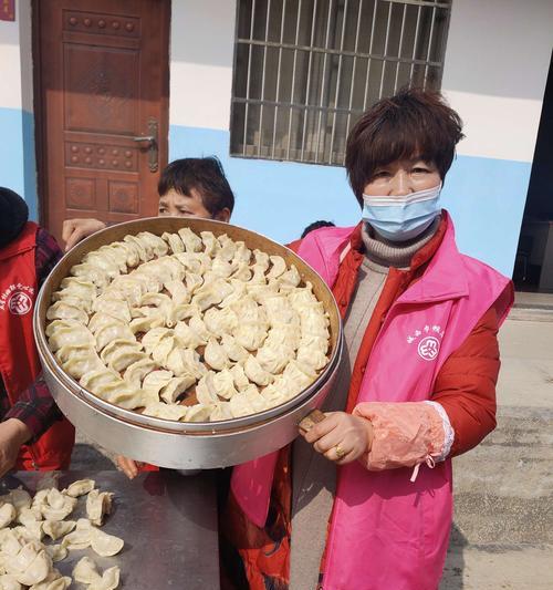
[[[139,0],[136,0],[139,1]],[[161,99],[160,108],[165,117],[160,117],[158,132],[158,162],[159,170],[167,166],[169,161],[169,91],[170,91],[170,23],[173,15],[173,1],[158,0],[167,4],[165,19],[161,20],[160,34],[167,39],[167,46],[161,48],[167,56],[167,68],[161,72]],[[34,115],[34,157],[36,162],[36,207],[39,211],[39,224],[48,227],[49,196],[46,189],[48,149],[45,149],[44,125],[42,124],[44,114],[44,94],[42,86],[41,68],[41,0],[31,0],[31,34],[32,34],[32,66],[33,66],[33,115]],[[161,55],[161,56],[165,56]],[[146,131],[146,130],[144,130]]]

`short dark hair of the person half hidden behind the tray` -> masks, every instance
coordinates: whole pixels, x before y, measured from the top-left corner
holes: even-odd
[[[192,188],[200,193],[204,207],[211,215],[225,208],[232,213],[234,195],[217,157],[175,159],[164,168],[157,185],[160,197],[170,189],[190,195]]]

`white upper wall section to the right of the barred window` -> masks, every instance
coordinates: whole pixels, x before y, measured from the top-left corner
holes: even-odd
[[[553,49],[553,0],[456,0],[442,90],[459,154],[531,162]]]

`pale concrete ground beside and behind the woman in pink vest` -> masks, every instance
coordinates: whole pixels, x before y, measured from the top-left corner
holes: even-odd
[[[455,459],[440,590],[553,588],[553,313],[515,309],[511,318],[500,332],[498,428]],[[88,443],[77,437],[73,468],[114,468]]]

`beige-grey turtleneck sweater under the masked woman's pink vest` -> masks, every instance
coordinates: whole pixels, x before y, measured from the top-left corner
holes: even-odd
[[[413,256],[436,234],[440,217],[417,238],[392,242],[364,225],[365,258],[359,267],[357,286],[344,319],[344,353],[325,412],[344,411],[353,365],[373,311],[378,302],[390,267],[407,269]],[[326,541],[326,526],[336,489],[336,467],[303,438],[292,445],[292,541],[290,588],[314,590]]]

